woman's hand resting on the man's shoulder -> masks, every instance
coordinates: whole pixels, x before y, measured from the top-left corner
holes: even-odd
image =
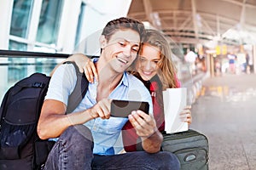
[[[96,82],[98,81],[96,66],[86,55],[73,54],[69,56],[65,61],[74,61],[76,65],[79,66],[79,71],[84,72],[85,77],[89,82],[94,82],[94,77],[96,78]]]

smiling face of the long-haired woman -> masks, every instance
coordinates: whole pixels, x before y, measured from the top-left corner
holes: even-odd
[[[144,81],[150,80],[157,74],[160,61],[160,48],[143,44],[142,52],[138,56],[136,69]]]

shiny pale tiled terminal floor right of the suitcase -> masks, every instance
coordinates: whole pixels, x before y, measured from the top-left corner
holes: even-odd
[[[209,139],[210,170],[256,170],[256,75],[207,78],[191,128]]]

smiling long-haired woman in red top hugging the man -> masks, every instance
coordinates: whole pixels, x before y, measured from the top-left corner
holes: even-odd
[[[165,130],[165,116],[162,91],[166,88],[179,88],[175,66],[172,64],[172,51],[164,35],[160,31],[147,30],[143,37],[142,46],[137,60],[131,65],[129,71],[139,78],[148,88],[154,105],[154,119],[160,132]],[[67,60],[75,60],[80,71],[84,71],[89,82],[97,81],[96,68],[90,59],[84,59],[83,54],[75,54]],[[190,124],[192,117],[191,106],[186,106],[180,113],[184,122]],[[127,122],[122,131],[125,151],[138,150],[140,141],[137,133]]]

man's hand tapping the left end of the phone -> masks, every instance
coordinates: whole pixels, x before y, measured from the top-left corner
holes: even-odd
[[[109,119],[110,117],[110,103],[112,99],[102,99],[96,105],[89,109],[92,118],[101,117],[102,119]]]

